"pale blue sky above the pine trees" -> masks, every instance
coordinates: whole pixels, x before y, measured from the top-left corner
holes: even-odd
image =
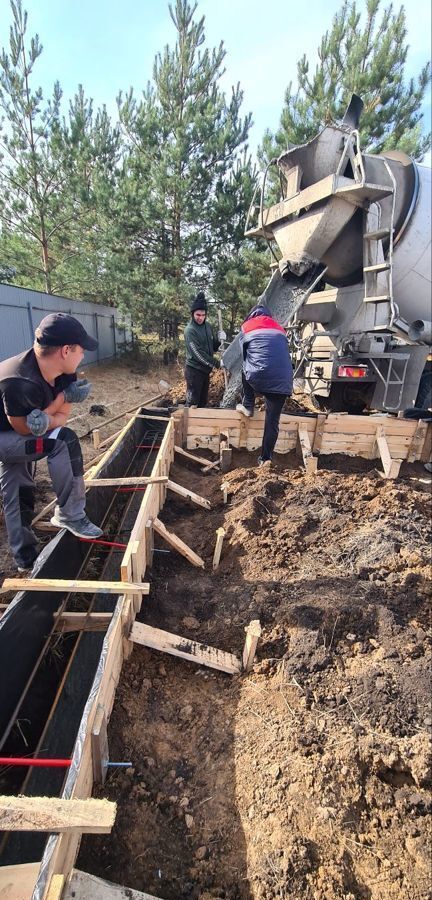
[[[223,40],[227,51],[223,86],[229,91],[240,81],[243,111],[253,114],[252,148],[265,128],[277,128],[298,58],[306,53],[311,62],[315,60],[320,39],[341,2],[199,0],[197,14],[205,16],[207,45]],[[105,103],[115,115],[119,89],[133,86],[139,93],[151,78],[155,54],[175,41],[168,3],[157,0],[23,0],[23,5],[29,14],[29,33],[37,31],[44,46],[35,70],[37,83],[50,92],[58,79],[65,109],[82,83],[96,106]],[[410,76],[430,58],[431,12],[429,0],[407,0],[404,5]],[[397,3],[395,7],[399,8]],[[8,45],[10,22],[9,2],[0,0],[0,46]],[[424,112],[429,130],[430,92]]]

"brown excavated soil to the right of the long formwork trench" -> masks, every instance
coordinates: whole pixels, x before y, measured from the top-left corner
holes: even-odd
[[[161,514],[206,568],[156,553],[139,618],[238,655],[259,618],[262,640],[241,677],[134,648],[109,729],[131,767],[79,867],[165,900],[429,897],[430,478],[238,452],[223,505],[220,475],[172,477],[212,501]]]

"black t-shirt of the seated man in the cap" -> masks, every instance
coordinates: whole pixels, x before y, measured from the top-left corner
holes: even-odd
[[[46,409],[76,375],[59,375],[54,385],[45,381],[34,350],[0,362],[0,431],[13,431],[7,416],[27,416]]]

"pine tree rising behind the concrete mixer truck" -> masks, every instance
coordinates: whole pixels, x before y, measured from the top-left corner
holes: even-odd
[[[407,30],[403,6],[390,5],[378,18],[381,0],[366,0],[366,18],[355,0],[345,0],[318,48],[318,64],[303,56],[297,64],[297,89],[288,85],[280,127],[267,131],[260,158],[268,161],[290,145],[303,144],[324,125],[343,118],[352,93],[364,103],[362,147],[368,152],[402,149],[421,159],[431,146],[422,135],[422,100],[430,63],[417,79],[405,82]]]

